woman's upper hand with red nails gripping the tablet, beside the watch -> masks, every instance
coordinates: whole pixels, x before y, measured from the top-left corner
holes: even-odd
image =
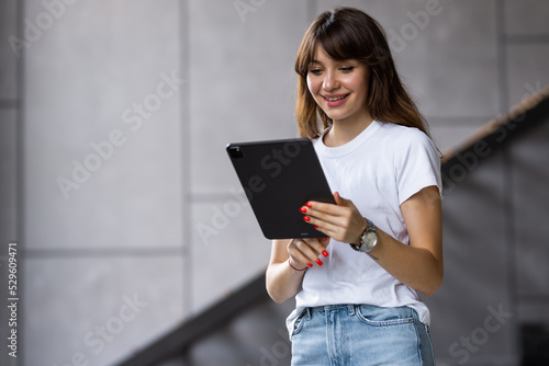
[[[322,202],[307,202],[301,207],[305,214],[303,219],[313,225],[316,230],[345,243],[358,243],[360,235],[368,227],[368,222],[360,215],[350,199],[334,193],[336,205]]]

